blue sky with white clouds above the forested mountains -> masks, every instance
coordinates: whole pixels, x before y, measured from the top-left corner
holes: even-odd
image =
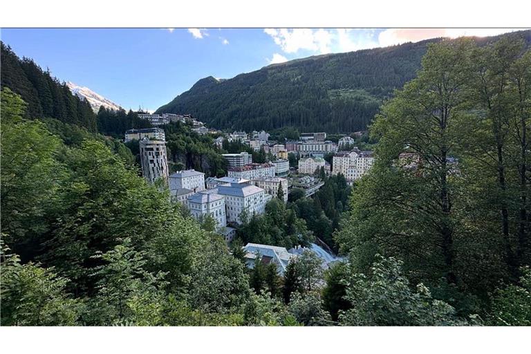
[[[150,111],[212,75],[230,78],[270,63],[432,37],[497,29],[11,28],[1,40],[63,81],[125,109]]]

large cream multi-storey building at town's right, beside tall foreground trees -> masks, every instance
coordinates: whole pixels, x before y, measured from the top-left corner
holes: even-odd
[[[373,151],[342,151],[333,158],[332,174],[343,174],[348,182],[362,178],[373,166]]]

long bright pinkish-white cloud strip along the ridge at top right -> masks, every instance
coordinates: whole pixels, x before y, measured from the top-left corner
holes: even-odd
[[[384,47],[436,37],[495,36],[514,30],[512,28],[389,28],[380,32],[378,42]]]

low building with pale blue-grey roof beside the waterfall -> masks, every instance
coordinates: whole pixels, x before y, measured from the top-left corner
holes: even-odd
[[[277,265],[277,273],[283,275],[291,259],[297,258],[297,254],[291,254],[283,247],[272,245],[260,245],[258,243],[248,243],[243,247],[245,251],[245,265],[254,268],[254,261],[259,257],[262,263]]]

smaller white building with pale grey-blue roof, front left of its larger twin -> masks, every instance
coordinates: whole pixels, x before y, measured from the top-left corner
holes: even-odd
[[[225,198],[216,193],[199,192],[187,198],[187,206],[194,218],[201,220],[209,215],[216,221],[216,229],[227,225]]]

